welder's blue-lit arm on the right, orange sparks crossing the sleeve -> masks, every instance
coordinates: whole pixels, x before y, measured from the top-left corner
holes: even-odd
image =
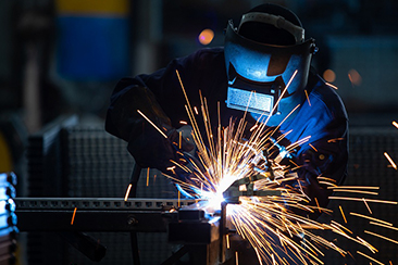
[[[300,139],[310,136],[309,141],[301,144],[293,153],[290,166],[296,167],[299,181],[289,185],[302,189],[309,199],[309,204],[315,210],[312,218],[316,218],[326,207],[333,193],[333,186],[341,185],[347,176],[348,164],[348,117],[343,102],[336,94],[326,94],[335,101],[320,100],[308,110],[313,114],[303,115],[296,130]],[[316,106],[318,105],[318,106]],[[306,213],[308,214],[308,213]]]

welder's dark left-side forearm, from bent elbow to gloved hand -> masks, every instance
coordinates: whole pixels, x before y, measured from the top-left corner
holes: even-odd
[[[166,138],[147,122],[137,111],[145,114]],[[153,93],[146,87],[127,85],[122,79],[111,97],[105,129],[128,142],[127,149],[141,167],[158,168],[166,172],[176,161],[179,140],[178,132],[172,127],[170,118],[157,102]],[[191,144],[182,142],[183,150]]]

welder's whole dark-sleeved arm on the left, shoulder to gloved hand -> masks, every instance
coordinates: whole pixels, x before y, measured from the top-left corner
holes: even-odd
[[[216,53],[219,54],[219,53]],[[200,105],[199,89],[203,94],[214,93],[214,76],[225,73],[224,68],[214,71],[214,54],[196,52],[178,58],[151,74],[142,74],[119,81],[111,96],[105,129],[110,134],[128,141],[128,151],[142,167],[154,167],[164,172],[176,159],[175,144],[181,129],[181,121],[189,121],[186,113],[186,99],[176,70],[185,85],[185,92],[192,105]],[[223,56],[217,62],[224,63]],[[223,65],[223,64],[222,64]],[[207,78],[204,78],[204,76]],[[210,81],[211,80],[211,81]],[[165,139],[138,113],[140,110],[166,135]],[[179,142],[178,142],[179,143]],[[181,151],[189,151],[194,144],[182,141]],[[178,147],[179,149],[179,147]],[[170,174],[170,172],[169,172]]]

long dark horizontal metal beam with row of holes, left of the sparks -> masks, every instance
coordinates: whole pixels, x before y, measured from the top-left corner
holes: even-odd
[[[178,205],[191,200],[114,198],[17,198],[21,231],[166,232]]]

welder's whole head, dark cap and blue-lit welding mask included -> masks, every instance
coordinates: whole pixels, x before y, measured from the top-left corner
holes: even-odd
[[[228,108],[248,110],[254,118],[271,115],[268,125],[276,126],[306,100],[316,47],[313,39],[304,40],[301,22],[288,9],[261,4],[242,15],[238,28],[229,21],[224,49]]]

